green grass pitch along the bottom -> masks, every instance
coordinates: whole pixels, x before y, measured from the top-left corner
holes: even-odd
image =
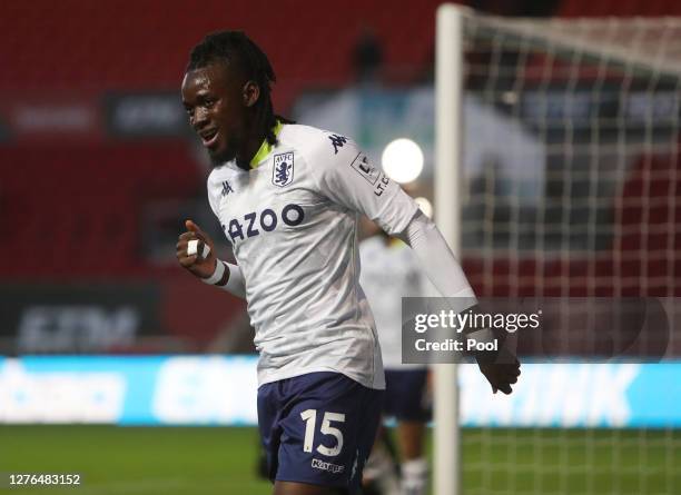
[[[255,428],[0,426],[0,473],[81,473],[37,495],[267,495]],[[681,432],[465,429],[464,494],[679,494]]]

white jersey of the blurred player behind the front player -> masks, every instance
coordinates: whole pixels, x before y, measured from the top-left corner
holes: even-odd
[[[401,240],[376,235],[359,242],[359,285],[376,321],[383,365],[386,369],[425,367],[402,363],[402,298],[438,297],[416,256]]]

